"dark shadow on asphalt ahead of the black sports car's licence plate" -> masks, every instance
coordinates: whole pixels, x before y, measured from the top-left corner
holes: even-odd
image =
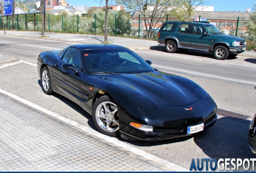
[[[250,121],[223,117],[213,128],[197,134],[194,142],[210,158],[254,158],[248,145]]]

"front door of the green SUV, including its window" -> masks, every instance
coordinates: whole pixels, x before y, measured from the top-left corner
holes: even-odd
[[[192,34],[191,46],[193,48],[208,50],[211,42],[211,37],[209,35],[204,35],[204,32],[207,32],[204,26],[193,25],[192,31],[193,31],[193,34]]]

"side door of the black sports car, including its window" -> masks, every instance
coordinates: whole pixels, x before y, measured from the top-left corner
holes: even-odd
[[[64,70],[62,68],[63,64],[72,64],[77,72]],[[81,105],[81,82],[84,75],[84,72],[81,70],[80,53],[74,47],[68,48],[60,60],[54,62],[52,69],[56,88],[78,105]]]

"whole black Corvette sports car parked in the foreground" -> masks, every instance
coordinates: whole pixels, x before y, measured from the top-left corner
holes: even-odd
[[[67,97],[90,113],[97,129],[129,140],[162,140],[203,131],[217,106],[195,82],[151,67],[113,44],[79,44],[41,52],[43,92]]]

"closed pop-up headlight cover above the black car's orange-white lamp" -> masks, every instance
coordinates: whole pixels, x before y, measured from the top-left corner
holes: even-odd
[[[145,96],[129,95],[126,98],[137,109],[155,109],[154,103]]]

